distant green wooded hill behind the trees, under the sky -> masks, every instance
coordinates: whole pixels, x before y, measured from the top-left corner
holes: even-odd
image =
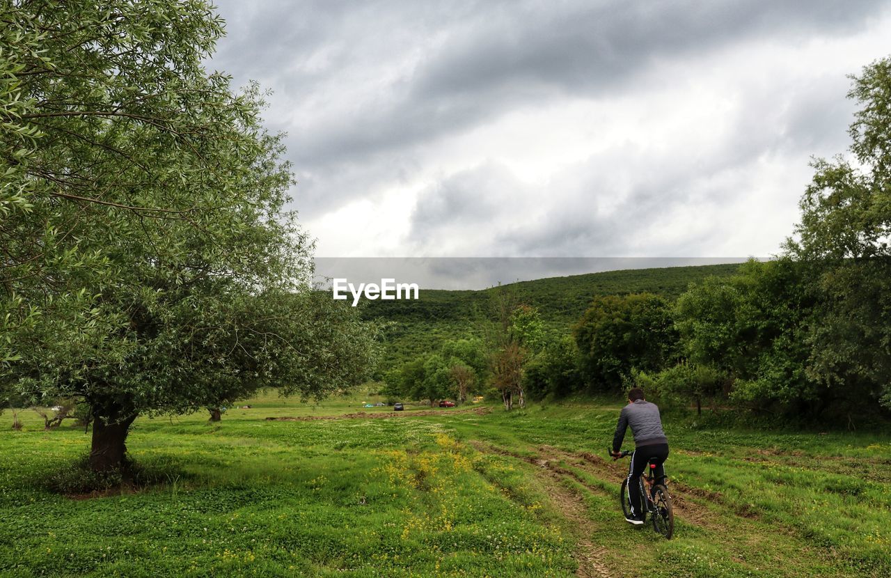
[[[511,292],[514,300],[538,308],[552,331],[564,333],[582,316],[595,296],[646,292],[674,300],[691,283],[705,277],[730,276],[739,267],[740,264],[732,263],[625,269],[521,281],[501,288]],[[364,318],[388,322],[380,372],[435,351],[446,340],[478,334],[480,320],[486,318],[495,290],[421,290],[416,301],[365,301]]]

